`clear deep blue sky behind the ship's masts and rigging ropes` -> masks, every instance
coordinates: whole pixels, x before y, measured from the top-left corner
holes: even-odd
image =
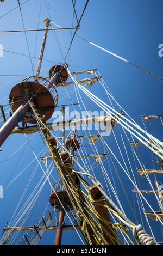
[[[25,1],[20,1],[20,3],[23,2]],[[42,5],[39,19],[41,2]],[[21,6],[24,26],[26,27],[26,29],[36,29],[38,21],[39,28],[44,28],[44,23],[42,20],[45,17],[49,17],[45,2],[48,2],[49,6],[51,7],[51,10],[48,10],[49,14],[51,15],[50,18],[53,22],[56,22],[61,27],[72,27],[73,6],[71,0],[63,0],[61,2],[52,0],[29,0],[27,3]],[[78,19],[82,14],[85,2],[86,1],[76,0],[76,11]],[[5,0],[4,3],[0,3],[0,31],[23,29],[19,8],[5,15],[10,10],[17,7],[17,5],[17,0]],[[163,43],[161,29],[163,25],[162,7],[163,4],[161,0],[90,0],[83,15],[80,29],[77,31],[77,35],[129,60],[130,62],[135,63],[136,65],[141,66],[148,71],[153,72],[160,77],[163,77],[163,57],[159,57],[158,54],[158,46],[159,44]],[[51,14],[51,11],[53,15]],[[73,26],[76,26],[75,17]],[[65,47],[69,47],[71,35],[64,31],[61,31],[60,33],[65,45],[62,44],[59,34],[57,33],[56,35],[59,40],[62,55],[65,57]],[[42,37],[43,31],[38,32],[35,53],[35,57],[37,58],[40,54]],[[34,57],[36,32],[27,32],[27,39],[30,49],[30,55]],[[0,57],[0,100],[2,100],[4,99],[4,97],[7,97],[9,95],[12,87],[14,87],[18,82],[22,81],[26,76],[32,74],[32,67],[30,64],[30,58],[20,55],[29,55],[24,33],[1,33],[0,44],[3,45],[4,49],[3,57]],[[109,53],[106,53],[77,37],[75,37],[73,40],[70,50],[70,58],[72,60],[74,68],[68,58],[66,59],[66,62],[70,65],[70,71],[72,72],[74,71],[74,69],[76,71],[85,69],[98,69],[100,74],[103,76],[104,81],[108,85],[111,93],[114,95],[116,101],[125,109],[128,114],[130,114],[130,116],[138,124],[141,125],[141,127],[144,128],[142,120],[140,118],[141,115],[162,114],[162,81],[151,75],[146,74],[145,72],[135,68],[134,66],[131,66],[128,63],[123,62],[120,59],[117,59],[114,56],[111,56]],[[45,60],[42,62],[41,70],[44,71],[41,71],[40,74],[42,76],[46,76],[48,74],[48,70],[51,68],[51,66],[53,66],[53,64],[63,62],[63,58],[59,51],[58,45],[55,42],[52,31],[48,32],[47,44],[43,59]],[[32,61],[33,60],[34,59],[32,58]],[[34,71],[36,70],[37,62],[38,60],[35,59]],[[90,77],[90,75],[83,75],[80,78],[86,77]],[[71,88],[67,88],[67,90],[71,90]],[[105,100],[109,104],[109,100],[104,94],[104,91],[102,90],[99,83],[95,83],[90,88],[90,90],[92,93],[97,95],[102,100]],[[62,88],[58,89],[58,93],[63,92],[64,90]],[[61,98],[62,97],[63,96],[61,96]],[[74,95],[72,95],[71,99],[73,103],[76,103],[76,97]],[[63,103],[68,104],[70,103],[70,101],[66,98],[65,100],[60,101],[60,104]],[[3,100],[1,104],[8,104],[8,98]],[[93,104],[92,106],[93,109],[96,110],[96,106]],[[149,133],[153,133],[156,138],[162,140],[162,127],[160,120],[152,120],[148,124],[146,124],[146,127]],[[117,138],[120,137],[118,132],[119,130],[118,128],[116,128],[115,133]],[[5,159],[8,159],[8,157],[12,153],[14,153],[17,148],[21,147],[21,145],[26,141],[27,139],[24,135],[11,135],[1,147],[1,162]],[[107,143],[109,143],[110,147],[112,147],[112,149],[114,149],[116,153],[117,148],[115,146],[113,136],[109,136],[109,138],[107,139]],[[40,150],[43,149],[43,143],[39,134],[34,136],[34,139],[32,139],[31,141],[31,145],[33,148],[35,148],[36,154],[38,154]],[[151,152],[144,148],[139,149],[147,168],[152,169],[153,163]],[[20,173],[20,171],[24,167],[26,167],[32,159],[34,159],[34,154],[29,145],[27,145],[25,150],[26,151],[24,151],[21,156],[22,161],[19,161],[18,164],[17,161],[18,157],[20,157],[20,154],[12,157],[9,161],[6,161],[5,163],[0,163],[2,186],[5,186],[14,168],[15,170],[11,176],[11,180],[14,179],[15,176]],[[99,150],[102,150],[100,145]],[[22,150],[18,151],[18,153],[20,153],[21,151]],[[129,154],[130,156],[132,156],[131,152],[129,152]],[[156,166],[156,161],[154,162],[154,164],[155,168],[159,168],[158,166]],[[18,200],[20,199],[22,193],[21,191],[23,190],[23,187],[26,186],[27,180],[29,179],[29,176],[35,166],[36,161],[32,165],[31,169],[27,168],[27,172],[23,173],[19,179],[13,182],[7,188],[7,190],[4,191],[4,198],[0,199],[0,232],[2,232],[5,223],[10,220],[10,217],[12,216],[16,208]],[[35,180],[33,181],[33,188],[35,184],[39,181],[41,175],[42,171],[39,170],[38,173],[36,173]],[[57,179],[57,174],[55,174],[55,172],[53,173],[53,176]],[[122,179],[123,181],[125,181],[126,178],[122,176]],[[142,180],[138,175],[137,179],[139,179],[139,185],[141,189],[149,188],[148,183],[145,181],[145,179]],[[161,181],[160,177],[159,179]],[[152,178],[152,181],[153,180],[154,178]],[[120,189],[121,193],[121,187],[118,188]],[[128,193],[131,193],[131,186],[126,186],[126,189]],[[48,203],[49,191],[50,188],[47,184],[47,186],[41,193],[37,204]],[[18,194],[18,196],[15,196],[14,199],[8,202],[12,195],[15,195],[16,193]],[[134,196],[131,194],[131,198],[133,198]],[[152,196],[150,195],[147,198],[151,200]],[[124,202],[125,199],[122,198],[122,203]],[[34,209],[34,214],[32,216],[32,219],[30,220],[31,225],[35,224],[42,215],[43,210],[41,207],[43,206],[40,206],[39,209],[38,207],[39,206],[36,206],[36,208]],[[153,207],[155,207],[155,210],[158,210],[156,209],[156,204],[154,204]],[[133,218],[132,215],[129,217]],[[160,229],[158,223],[152,220],[149,221],[153,225],[153,227],[155,227],[154,231],[158,228]],[[66,234],[64,234],[63,243],[79,243],[77,236],[71,237],[75,238],[67,239]],[[156,237],[158,241],[162,241],[162,237]],[[45,241],[49,241],[48,239],[49,233],[48,235],[46,235]],[[53,241],[50,241],[50,243],[52,242]]]

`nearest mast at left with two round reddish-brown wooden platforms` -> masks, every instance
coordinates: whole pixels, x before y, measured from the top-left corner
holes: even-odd
[[[33,117],[30,102],[34,103],[37,109],[37,114],[42,115],[45,121],[51,118],[54,109],[58,103],[58,94],[55,89],[56,95],[53,99],[53,96],[51,95],[49,90],[53,88],[53,84],[65,82],[68,78],[67,70],[65,69],[65,66],[62,65],[54,65],[51,68],[51,70],[49,71],[50,81],[46,80],[45,78],[39,77],[43,52],[45,49],[45,43],[47,38],[49,19],[45,18],[43,19],[43,22],[45,22],[46,28],[43,35],[36,75],[34,77],[26,78],[21,83],[16,84],[16,86],[11,89],[9,95],[9,102],[14,114],[5,122],[5,124],[0,129],[0,147],[20,121],[22,121],[23,123],[23,128],[24,124],[37,123],[35,118]],[[37,82],[38,78],[44,81],[43,84]]]

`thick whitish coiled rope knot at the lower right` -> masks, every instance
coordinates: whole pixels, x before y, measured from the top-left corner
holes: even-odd
[[[141,225],[133,228],[133,236],[139,245],[156,245],[153,237],[149,236],[146,231],[141,229]]]

